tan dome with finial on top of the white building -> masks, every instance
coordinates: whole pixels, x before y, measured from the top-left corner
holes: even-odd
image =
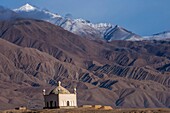
[[[70,92],[61,86],[61,82],[58,82],[58,86],[56,88],[54,88],[50,94],[70,94]]]

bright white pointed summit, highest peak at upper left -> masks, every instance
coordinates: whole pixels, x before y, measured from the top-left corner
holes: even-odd
[[[25,4],[24,6],[18,8],[18,9],[14,9],[14,11],[26,11],[26,12],[29,12],[29,11],[34,11],[36,10],[37,8],[30,5],[30,4]]]

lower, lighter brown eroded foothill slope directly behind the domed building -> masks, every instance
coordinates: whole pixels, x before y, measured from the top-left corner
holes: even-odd
[[[83,82],[89,74],[87,70],[60,62],[36,49],[18,47],[1,39],[0,53],[1,109],[21,105],[43,107],[42,89],[47,88],[49,92],[52,89],[49,84],[55,85],[58,80],[70,90],[77,86],[79,105],[169,106],[169,88],[156,82],[107,75],[100,78],[90,73],[92,85]],[[78,76],[76,72],[79,72]]]

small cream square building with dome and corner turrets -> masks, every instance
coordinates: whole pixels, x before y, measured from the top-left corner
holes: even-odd
[[[54,88],[49,95],[44,95],[44,108],[75,108],[77,107],[77,94],[76,88],[74,88],[74,93],[70,93],[66,88],[61,86],[61,82],[58,82],[58,86]]]

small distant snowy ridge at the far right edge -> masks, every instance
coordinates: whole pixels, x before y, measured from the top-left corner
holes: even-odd
[[[170,31],[154,34],[152,36],[145,36],[146,40],[170,40]]]

